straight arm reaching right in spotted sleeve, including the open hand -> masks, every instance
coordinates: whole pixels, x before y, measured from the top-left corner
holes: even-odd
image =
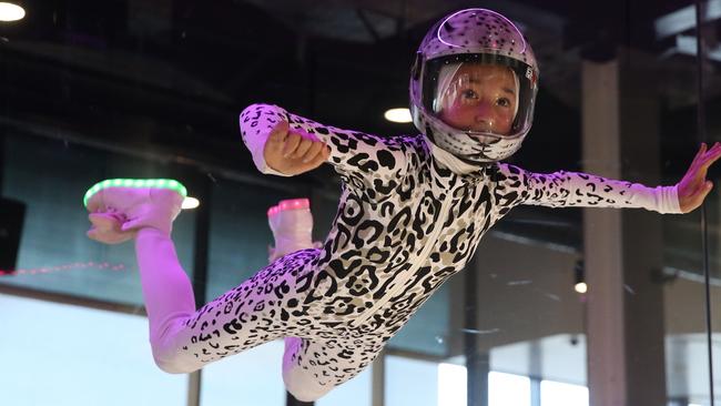
[[[719,143],[709,151],[703,144],[681,182],[657,187],[578,172],[532,173],[499,163],[501,181],[497,196],[510,205],[640,207],[659,213],[688,213],[700,206],[711,191],[707,171],[720,156]]]

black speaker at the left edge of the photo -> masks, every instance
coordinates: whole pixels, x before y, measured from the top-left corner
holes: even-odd
[[[24,203],[0,197],[0,272],[16,270],[24,217]]]

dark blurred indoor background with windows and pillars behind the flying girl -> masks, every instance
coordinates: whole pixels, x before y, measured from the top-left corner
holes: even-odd
[[[700,27],[681,0],[12,3],[24,11],[0,2],[2,405],[301,405],[282,342],[191,375],[158,369],[132,244],[88,240],[82,196],[109,177],[183,182],[200,206],[173,238],[197,302],[219,296],[266,264],[270,206],[309,197],[323,240],[339,196],[331,168],[260,174],[240,112],[275,103],[415,133],[384,113],[407,108],[417,45],[454,10],[501,12],[538,58],[514,164],[672,185],[721,138],[721,0],[700,2]],[[316,404],[713,404],[718,189],[686,215],[516,209],[370,368]]]

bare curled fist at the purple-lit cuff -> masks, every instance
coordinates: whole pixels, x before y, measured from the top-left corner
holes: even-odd
[[[312,134],[291,130],[283,120],[271,131],[263,158],[273,170],[286,175],[297,175],[321,166],[328,160],[331,150]]]

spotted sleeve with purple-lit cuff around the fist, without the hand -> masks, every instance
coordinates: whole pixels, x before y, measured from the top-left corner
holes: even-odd
[[[286,120],[292,129],[302,130],[323,140],[331,148],[332,164],[346,183],[383,192],[393,190],[406,170],[406,146],[403,139],[386,139],[357,131],[341,130],[316,123],[285,109],[270,104],[252,104],[240,116],[243,142],[263,173],[285,176],[268,168],[263,148],[271,129]]]

